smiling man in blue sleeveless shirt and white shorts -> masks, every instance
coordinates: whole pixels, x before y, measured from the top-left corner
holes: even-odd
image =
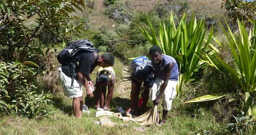
[[[158,105],[161,97],[163,97],[163,117],[159,122],[159,126],[161,126],[165,123],[167,113],[171,110],[172,101],[176,96],[176,85],[179,77],[178,64],[173,57],[163,55],[159,46],[152,46],[149,49],[149,54],[155,68],[155,82],[149,90],[149,97],[154,105]]]

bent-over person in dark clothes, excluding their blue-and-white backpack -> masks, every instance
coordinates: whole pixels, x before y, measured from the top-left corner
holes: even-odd
[[[130,107],[126,109],[126,113],[132,113],[133,115],[139,115],[138,102],[139,102],[139,93],[141,91],[142,82],[144,86],[144,91],[141,93],[143,99],[143,104],[141,109],[145,111],[145,107],[148,102],[148,91],[149,84],[153,78],[154,68],[152,66],[139,67],[134,69],[132,72],[132,90],[130,95]]]

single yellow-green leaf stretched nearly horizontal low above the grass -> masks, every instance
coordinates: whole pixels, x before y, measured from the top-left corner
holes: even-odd
[[[205,101],[210,101],[210,100],[216,100],[216,99],[220,99],[220,98],[222,98],[222,97],[224,97],[226,95],[227,95],[226,93],[204,95],[202,97],[198,97],[198,98],[189,100],[187,102],[184,102],[183,104],[192,103],[192,102],[205,102]]]

